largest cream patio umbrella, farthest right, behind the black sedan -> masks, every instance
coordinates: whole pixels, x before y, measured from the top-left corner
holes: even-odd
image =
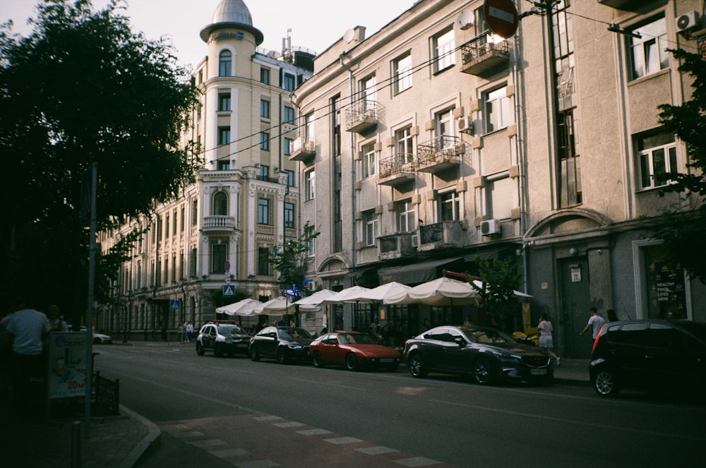
[[[478,304],[479,295],[470,284],[447,277],[418,284],[396,296],[390,296],[385,304],[426,304],[429,306],[462,306]]]

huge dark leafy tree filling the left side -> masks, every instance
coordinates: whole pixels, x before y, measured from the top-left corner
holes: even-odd
[[[125,8],[121,0],[102,11],[89,0],[45,0],[27,37],[0,26],[0,153],[11,194],[0,281],[4,291],[38,306],[59,303],[73,318],[86,305],[82,182],[92,163],[99,230],[175,198],[199,164],[195,148],[180,145],[196,103],[189,72],[164,40],[133,33]],[[100,271],[114,272],[105,263],[128,254],[124,242]]]

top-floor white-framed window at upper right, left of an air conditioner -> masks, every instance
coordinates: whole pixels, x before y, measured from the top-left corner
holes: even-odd
[[[659,18],[633,30],[640,32],[642,37],[628,37],[632,61],[630,78],[634,80],[669,66],[669,55],[666,52],[666,19]]]

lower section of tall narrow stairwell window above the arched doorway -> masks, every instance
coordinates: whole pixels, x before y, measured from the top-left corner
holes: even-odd
[[[582,202],[581,158],[576,154],[573,109],[556,116],[559,157],[559,205],[566,207]]]

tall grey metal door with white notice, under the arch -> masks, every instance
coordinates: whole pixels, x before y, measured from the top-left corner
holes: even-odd
[[[591,292],[588,260],[586,257],[559,260],[559,269],[561,315],[558,318],[561,330],[563,330],[563,356],[573,359],[590,358],[593,347],[591,330],[585,332],[582,337],[578,335],[590,318],[588,309],[591,307]]]

